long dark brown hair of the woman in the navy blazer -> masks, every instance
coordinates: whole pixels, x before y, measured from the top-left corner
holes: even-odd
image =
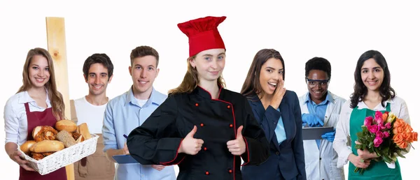
[[[262,87],[260,85],[260,71],[262,65],[270,58],[279,59],[281,61],[281,64],[283,65],[284,80],[286,68],[284,66],[283,57],[281,57],[280,52],[273,49],[262,49],[258,51],[257,54],[255,54],[255,57],[251,63],[251,67],[249,67],[248,75],[246,75],[244,85],[242,85],[242,95],[250,98],[254,93],[257,95],[262,93],[262,96],[264,96],[264,91],[262,91]]]

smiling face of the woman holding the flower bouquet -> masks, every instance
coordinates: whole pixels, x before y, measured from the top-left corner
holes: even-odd
[[[360,74],[368,91],[379,91],[379,87],[384,81],[384,70],[373,58],[367,59],[363,63]]]

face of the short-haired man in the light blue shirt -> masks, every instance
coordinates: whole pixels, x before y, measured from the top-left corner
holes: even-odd
[[[136,98],[147,99],[153,90],[153,82],[158,77],[157,59],[153,56],[137,57],[129,67]]]

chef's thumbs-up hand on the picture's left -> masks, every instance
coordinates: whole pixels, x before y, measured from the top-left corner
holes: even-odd
[[[178,153],[186,153],[190,155],[195,155],[198,151],[201,150],[201,147],[204,143],[201,139],[195,139],[194,134],[197,132],[197,126],[194,126],[193,130],[186,135],[182,140],[181,146],[178,149]]]

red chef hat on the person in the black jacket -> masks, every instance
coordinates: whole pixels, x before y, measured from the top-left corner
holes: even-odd
[[[204,50],[218,48],[226,50],[225,43],[217,30],[218,24],[225,19],[225,16],[207,16],[178,24],[179,29],[188,36],[190,57]]]

